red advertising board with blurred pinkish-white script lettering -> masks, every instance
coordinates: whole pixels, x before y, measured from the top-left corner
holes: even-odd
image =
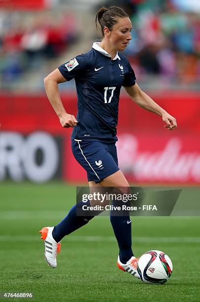
[[[184,135],[121,132],[117,152],[119,167],[130,182],[150,184],[200,184],[200,141]],[[86,172],[74,159],[66,140],[65,179],[86,180]]]

